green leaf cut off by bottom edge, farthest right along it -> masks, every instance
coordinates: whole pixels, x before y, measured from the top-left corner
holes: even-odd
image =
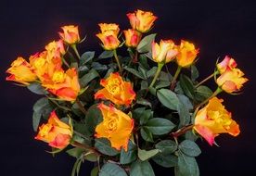
[[[188,157],[179,152],[178,166],[175,169],[177,176],[199,176],[198,163],[195,157]]]

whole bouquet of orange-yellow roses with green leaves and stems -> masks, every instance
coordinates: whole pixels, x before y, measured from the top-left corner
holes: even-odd
[[[99,24],[99,56],[80,55],[78,27],[64,26],[45,51],[13,61],[6,80],[44,96],[33,106],[35,139],[50,145],[52,154],[76,157],[72,176],[84,160],[95,162],[91,176],[153,176],[150,162],[174,167],[177,176],[199,175],[198,137],[217,145],[219,134],[240,132],[217,95],[237,94],[248,79],[226,56],[198,82],[194,44],[155,42],[156,33],[147,34],[157,19],[151,12],[127,17],[132,28],[123,31],[124,40],[119,25]],[[123,46],[128,57],[118,55]],[[213,92],[203,85],[211,79]]]

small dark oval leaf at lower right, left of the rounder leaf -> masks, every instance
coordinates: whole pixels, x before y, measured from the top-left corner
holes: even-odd
[[[172,154],[177,150],[177,147],[177,144],[172,140],[163,140],[156,145],[156,148],[160,149],[162,154]]]

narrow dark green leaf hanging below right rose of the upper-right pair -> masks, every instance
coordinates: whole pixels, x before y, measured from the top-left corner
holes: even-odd
[[[194,99],[195,90],[191,80],[184,74],[180,75],[180,84],[184,93],[191,99]]]

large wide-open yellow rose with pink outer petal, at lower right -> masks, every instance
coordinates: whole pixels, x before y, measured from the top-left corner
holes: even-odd
[[[231,113],[222,105],[223,100],[211,98],[206,107],[201,108],[195,119],[194,130],[197,131],[210,145],[220,133],[237,136],[240,133],[237,122],[231,119]]]

